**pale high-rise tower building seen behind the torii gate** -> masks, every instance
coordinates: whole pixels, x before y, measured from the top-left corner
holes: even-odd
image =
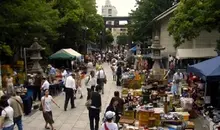
[[[105,5],[102,6],[102,16],[103,17],[115,17],[117,16],[117,9],[115,6],[111,4],[110,0],[106,0]],[[114,25],[114,21],[107,21],[106,24]],[[113,28],[111,29],[112,35],[114,37],[114,45],[117,42],[117,36],[119,35],[126,35],[127,28]]]

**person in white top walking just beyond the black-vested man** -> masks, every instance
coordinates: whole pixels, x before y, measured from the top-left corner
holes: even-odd
[[[97,84],[102,87],[102,94],[104,94],[104,84],[106,83],[106,75],[102,67],[98,68],[96,77],[97,77]]]

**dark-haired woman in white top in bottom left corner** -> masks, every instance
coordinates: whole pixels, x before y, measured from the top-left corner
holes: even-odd
[[[2,108],[1,117],[4,118],[3,122],[0,124],[0,129],[2,130],[13,130],[14,129],[14,110],[9,106],[7,96],[2,96],[0,100],[0,105]]]

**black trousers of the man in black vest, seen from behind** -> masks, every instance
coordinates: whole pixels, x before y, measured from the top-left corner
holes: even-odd
[[[90,121],[90,130],[98,130],[99,129],[99,109],[89,108],[89,121]],[[94,127],[95,120],[95,127]]]

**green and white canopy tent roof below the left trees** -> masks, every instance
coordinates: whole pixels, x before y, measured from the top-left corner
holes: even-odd
[[[49,59],[60,59],[60,60],[74,60],[76,58],[81,58],[82,55],[73,49],[61,49],[49,57]]]

